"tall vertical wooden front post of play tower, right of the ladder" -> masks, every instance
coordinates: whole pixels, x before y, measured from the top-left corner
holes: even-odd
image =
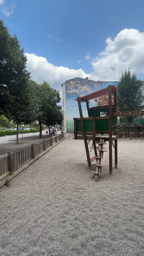
[[[112,174],[112,86],[108,86],[108,115],[109,115],[109,173]]]

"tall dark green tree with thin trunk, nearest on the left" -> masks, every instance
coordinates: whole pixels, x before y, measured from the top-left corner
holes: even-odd
[[[26,56],[20,48],[19,41],[0,20],[0,113],[14,120],[18,125],[32,121],[31,93],[29,78],[26,70]]]

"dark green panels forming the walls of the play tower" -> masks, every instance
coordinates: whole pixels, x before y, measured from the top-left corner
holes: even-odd
[[[98,110],[89,110],[90,117],[100,117],[100,112],[107,112],[108,109],[98,109]],[[112,108],[112,112],[114,112],[114,108]],[[97,119],[96,120],[96,131],[108,131],[109,124],[108,119]],[[84,120],[85,130],[88,132],[92,131],[92,120]],[[114,117],[112,117],[112,125],[114,125]],[[114,131],[114,127],[112,127]],[[77,131],[82,131],[81,121],[77,120]]]

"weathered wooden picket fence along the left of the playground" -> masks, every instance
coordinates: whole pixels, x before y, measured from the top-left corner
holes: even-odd
[[[29,162],[31,159],[34,159],[43,151],[46,151],[52,145],[61,141],[62,138],[64,138],[63,134],[56,135],[13,152],[0,155],[0,180],[15,172],[18,168]]]

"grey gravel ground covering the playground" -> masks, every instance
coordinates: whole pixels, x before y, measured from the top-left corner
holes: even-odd
[[[104,153],[97,183],[84,141],[59,143],[0,189],[0,255],[144,255],[143,152],[119,139],[118,169]]]

